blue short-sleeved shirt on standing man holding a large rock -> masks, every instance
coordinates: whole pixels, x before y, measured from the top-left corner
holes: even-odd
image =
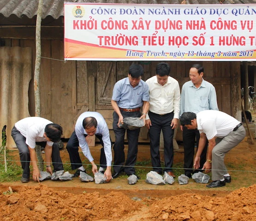
[[[136,87],[132,87],[128,77],[115,83],[112,100],[121,108],[138,108],[143,101],[149,101],[149,86],[140,80]]]

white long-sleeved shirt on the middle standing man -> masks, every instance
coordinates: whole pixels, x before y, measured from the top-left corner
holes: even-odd
[[[173,118],[179,119],[179,82],[168,76],[167,82],[162,86],[157,82],[157,77],[153,76],[146,83],[149,85],[149,111],[161,115],[174,112]],[[146,119],[149,117],[147,116]]]

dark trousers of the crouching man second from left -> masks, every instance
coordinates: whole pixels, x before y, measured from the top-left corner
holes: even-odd
[[[103,146],[101,148],[101,157],[100,157],[100,166],[102,168],[107,168],[107,160],[105,156],[105,151],[104,151],[104,144],[102,140],[102,135],[100,134],[95,134],[95,136],[101,141],[101,145]],[[87,134],[84,134],[84,137],[87,137]],[[72,169],[77,169],[82,166],[82,161],[78,153],[78,146],[79,146],[79,141],[77,139],[77,134],[74,131],[71,134],[70,139],[67,142],[67,151],[69,153],[70,157],[70,162],[71,162],[71,168]]]

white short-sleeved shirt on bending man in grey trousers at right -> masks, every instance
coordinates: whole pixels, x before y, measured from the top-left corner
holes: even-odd
[[[240,123],[234,117],[214,110],[201,111],[196,114],[199,133],[206,134],[208,140],[214,137],[223,138]]]

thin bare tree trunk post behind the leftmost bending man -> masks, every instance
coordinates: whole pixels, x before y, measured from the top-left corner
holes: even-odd
[[[34,72],[34,93],[35,93],[35,116],[41,116],[40,110],[40,67],[41,67],[41,22],[42,22],[42,5],[43,0],[39,0],[36,15],[36,61]],[[41,147],[36,145],[36,157],[38,161],[38,169],[43,170],[43,158]]]

